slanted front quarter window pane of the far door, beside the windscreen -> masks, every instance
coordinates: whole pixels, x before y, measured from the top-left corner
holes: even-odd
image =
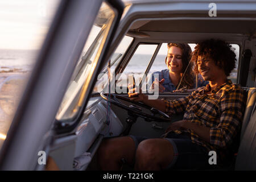
[[[117,93],[125,92],[123,88],[126,88],[128,82],[133,81],[133,78],[135,84],[139,85],[157,46],[157,44],[140,44],[138,46],[125,70],[118,76],[115,89]]]

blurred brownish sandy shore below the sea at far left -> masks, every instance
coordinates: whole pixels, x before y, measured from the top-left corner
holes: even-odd
[[[0,133],[6,134],[29,73],[0,73]]]

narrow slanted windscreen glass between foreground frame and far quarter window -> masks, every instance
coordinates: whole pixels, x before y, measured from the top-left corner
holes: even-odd
[[[113,56],[110,58],[110,73],[114,79],[115,75],[115,68],[117,67],[118,63],[122,60],[123,55],[125,54],[127,48],[130,46],[133,38],[130,36],[124,36],[121,43],[115,50]],[[93,93],[102,92],[102,90],[108,85],[108,63],[102,69],[101,73],[98,75],[97,82],[93,88]]]

